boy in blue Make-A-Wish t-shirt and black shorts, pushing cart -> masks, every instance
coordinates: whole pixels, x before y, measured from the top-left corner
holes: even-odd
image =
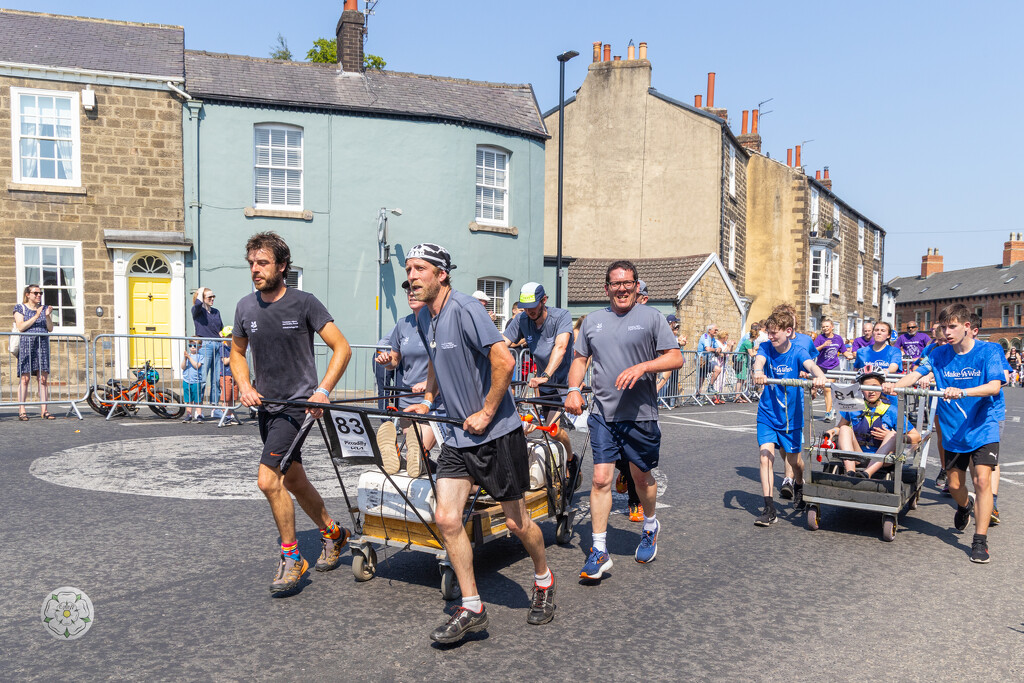
[[[912,386],[932,374],[935,386],[943,392],[937,421],[942,429],[946,452],[949,493],[956,501],[953,526],[967,528],[975,513],[975,535],[971,561],[986,563],[988,525],[992,515],[992,470],[999,462],[999,422],[995,397],[1006,375],[991,344],[976,342],[971,334],[971,311],[964,304],[951,304],[939,313],[939,325],[946,345],[939,346],[921,360],[918,370],[895,385],[886,383],[883,390],[892,393],[894,386]],[[975,500],[968,496],[966,475],[970,468],[974,479]]]

